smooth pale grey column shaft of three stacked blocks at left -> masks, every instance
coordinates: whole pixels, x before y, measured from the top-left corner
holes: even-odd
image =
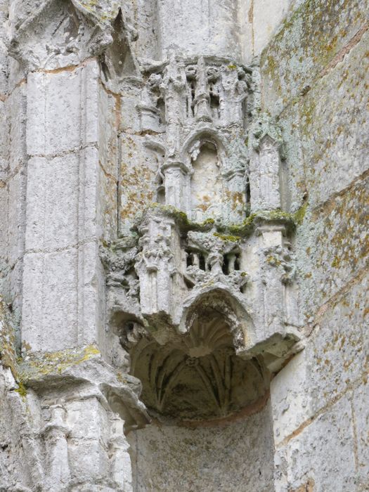
[[[22,339],[34,351],[97,340],[99,68],[31,72]]]

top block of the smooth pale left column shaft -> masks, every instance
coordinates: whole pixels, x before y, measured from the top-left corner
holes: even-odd
[[[27,153],[58,155],[96,143],[97,87],[95,61],[73,70],[32,72],[27,83]]]

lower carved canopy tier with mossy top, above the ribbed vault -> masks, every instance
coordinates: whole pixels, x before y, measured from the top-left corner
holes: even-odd
[[[199,299],[223,292],[238,306],[229,308],[235,318],[249,319],[241,322],[237,353],[283,360],[299,340],[290,220],[261,214],[226,235],[214,221],[191,224],[175,209],[148,209],[136,239],[102,249],[110,312],[127,320],[119,336],[127,339],[124,330],[138,323],[141,334],[166,343],[190,330],[188,311]]]

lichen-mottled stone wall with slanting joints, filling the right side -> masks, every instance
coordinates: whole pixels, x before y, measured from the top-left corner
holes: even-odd
[[[295,238],[306,349],[271,384],[279,491],[369,486],[367,15],[367,1],[306,1],[261,55],[290,207],[306,207]]]

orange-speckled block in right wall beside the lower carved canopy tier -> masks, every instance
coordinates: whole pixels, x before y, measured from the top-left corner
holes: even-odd
[[[368,177],[344,195],[328,200],[322,209],[307,209],[297,231],[297,264],[304,281],[303,315],[327,302],[347,281],[365,268],[368,257]]]

